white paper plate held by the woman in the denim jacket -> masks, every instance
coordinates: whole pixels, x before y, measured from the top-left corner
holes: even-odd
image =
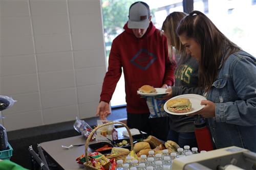
[[[192,104],[192,109],[190,112],[186,112],[186,113],[174,113],[174,112],[171,112],[167,109],[166,107],[166,104],[169,100],[172,100],[172,99],[179,99],[179,98],[187,98],[189,99],[189,101],[191,102]],[[164,111],[166,111],[167,113],[169,114],[174,114],[174,115],[186,115],[186,114],[191,114],[191,113],[194,113],[194,112],[197,112],[199,110],[201,110],[202,108],[204,108],[205,105],[201,105],[201,101],[202,100],[207,100],[204,96],[202,95],[198,95],[198,94],[182,94],[182,95],[177,95],[175,96],[174,98],[172,99],[169,99],[167,102],[165,102],[165,104],[163,105],[163,109]]]

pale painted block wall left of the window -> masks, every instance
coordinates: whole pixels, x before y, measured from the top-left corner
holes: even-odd
[[[95,116],[106,71],[99,0],[0,1],[7,131]]]

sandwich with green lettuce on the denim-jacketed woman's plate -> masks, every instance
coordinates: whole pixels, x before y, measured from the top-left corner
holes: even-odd
[[[186,113],[191,111],[191,102],[186,98],[172,99],[166,103],[166,107],[170,112]]]

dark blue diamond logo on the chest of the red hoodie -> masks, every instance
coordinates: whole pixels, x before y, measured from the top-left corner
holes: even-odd
[[[142,70],[146,70],[148,67],[151,66],[151,64],[154,63],[156,59],[157,57],[153,53],[150,53],[146,49],[142,48],[132,58],[131,63]]]

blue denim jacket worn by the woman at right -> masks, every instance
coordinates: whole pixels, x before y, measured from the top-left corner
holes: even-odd
[[[256,152],[256,59],[244,51],[231,54],[206,98],[215,103],[215,117],[207,120],[217,149]]]

